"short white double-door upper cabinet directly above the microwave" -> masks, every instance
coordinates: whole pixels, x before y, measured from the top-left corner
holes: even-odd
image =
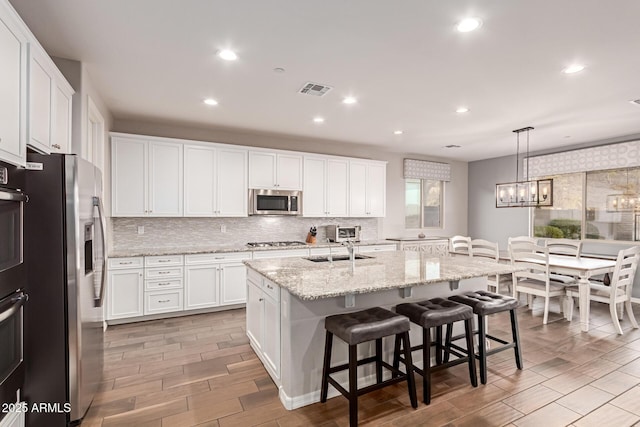
[[[302,190],[302,156],[249,151],[249,188]]]

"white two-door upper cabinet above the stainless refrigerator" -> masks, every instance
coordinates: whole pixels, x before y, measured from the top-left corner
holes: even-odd
[[[29,50],[27,144],[42,153],[69,153],[73,89],[40,46]]]

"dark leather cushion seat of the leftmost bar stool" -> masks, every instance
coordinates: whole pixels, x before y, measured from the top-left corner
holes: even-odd
[[[349,345],[408,332],[406,317],[381,307],[354,313],[336,314],[324,320],[324,327]]]

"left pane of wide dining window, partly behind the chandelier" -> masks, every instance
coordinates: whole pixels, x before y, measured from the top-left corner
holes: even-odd
[[[535,237],[581,238],[582,177],[581,173],[548,177],[553,178],[553,206],[533,209]]]

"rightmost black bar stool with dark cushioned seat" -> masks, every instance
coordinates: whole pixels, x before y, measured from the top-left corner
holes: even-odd
[[[451,301],[470,306],[473,309],[473,312],[478,315],[478,354],[476,354],[475,357],[480,360],[480,382],[482,382],[482,384],[487,383],[487,356],[500,351],[513,348],[516,358],[516,366],[518,369],[522,370],[522,353],[520,349],[520,335],[518,333],[518,317],[516,314],[518,301],[515,298],[487,291],[476,291],[454,295],[449,297],[449,299]],[[511,316],[512,342],[504,341],[500,338],[487,334],[485,316],[503,311],[509,311],[509,315]],[[452,344],[452,341],[457,341],[462,338],[462,335],[451,337],[451,331],[447,328],[445,347],[457,348],[455,344]],[[487,351],[487,339],[499,342],[503,345]],[[447,358],[448,354],[445,349],[445,360]]]

